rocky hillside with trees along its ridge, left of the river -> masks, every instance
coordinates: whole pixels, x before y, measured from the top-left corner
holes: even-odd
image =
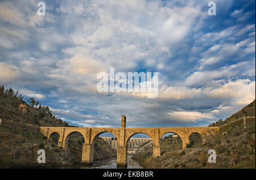
[[[57,119],[46,106],[28,106],[28,113],[18,113],[20,103],[25,103],[13,90],[0,87],[0,118],[28,123],[36,126],[70,127],[68,123]],[[32,102],[33,103],[33,102]],[[39,105],[39,103],[38,103]],[[35,168],[38,166],[73,165],[81,161],[84,138],[74,133],[68,140],[68,148],[57,146],[58,137],[48,141],[40,132],[10,127],[0,127],[0,168]],[[38,164],[37,151],[46,151],[46,164]],[[116,156],[100,137],[94,144],[94,160]]]

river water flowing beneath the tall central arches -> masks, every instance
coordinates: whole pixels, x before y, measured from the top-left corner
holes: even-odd
[[[139,162],[133,160],[132,155],[127,156],[127,169],[141,169],[143,168],[139,165]],[[69,169],[117,169],[117,157],[107,158],[105,160],[95,160],[92,166],[74,165],[74,166],[62,166],[61,168]]]

